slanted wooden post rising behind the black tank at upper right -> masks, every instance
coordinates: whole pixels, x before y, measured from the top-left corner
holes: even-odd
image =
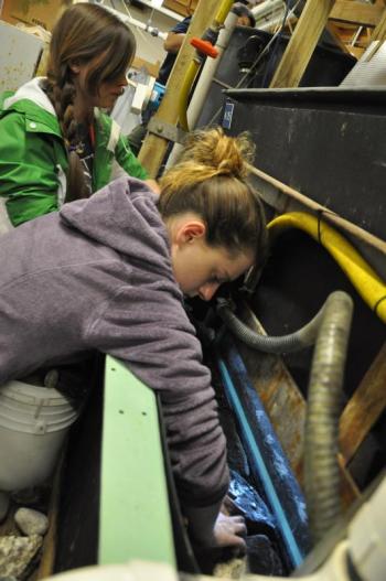
[[[308,0],[270,87],[297,87],[328,22],[334,0]]]

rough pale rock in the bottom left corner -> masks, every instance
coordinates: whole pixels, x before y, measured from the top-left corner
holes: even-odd
[[[39,535],[0,537],[0,577],[21,578],[33,563],[42,542]]]

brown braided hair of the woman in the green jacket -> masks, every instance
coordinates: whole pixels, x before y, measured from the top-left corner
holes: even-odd
[[[86,77],[86,90],[96,96],[101,83],[115,80],[126,72],[135,52],[132,32],[119,18],[97,4],[72,6],[63,12],[53,30],[47,95],[68,151],[66,202],[88,194],[81,161],[73,151],[79,140],[79,126],[74,119],[76,92],[71,65],[85,64],[100,56]]]

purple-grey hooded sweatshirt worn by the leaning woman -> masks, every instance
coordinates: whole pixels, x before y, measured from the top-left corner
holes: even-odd
[[[156,203],[125,177],[1,237],[0,385],[90,349],[122,359],[161,395],[181,499],[208,506],[225,439]]]

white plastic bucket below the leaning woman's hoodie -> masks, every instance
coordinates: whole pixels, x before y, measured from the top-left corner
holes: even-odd
[[[0,387],[0,491],[41,484],[55,466],[78,406],[56,389],[22,381]]]

